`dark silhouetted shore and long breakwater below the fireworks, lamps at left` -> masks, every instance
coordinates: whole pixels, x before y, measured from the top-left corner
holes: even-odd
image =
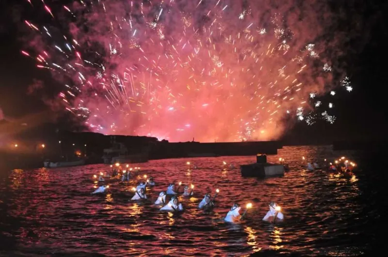
[[[9,126],[9,124],[6,124]],[[7,129],[9,131],[9,129]],[[4,166],[39,167],[45,159],[69,160],[86,156],[87,163],[102,163],[103,150],[112,142],[123,143],[128,154],[144,154],[148,159],[276,154],[282,148],[279,141],[199,143],[158,141],[147,136],[105,136],[92,132],[62,131],[53,124],[24,129],[11,138],[3,138],[0,161]],[[17,147],[15,146],[17,144]],[[44,145],[44,147],[42,146]],[[62,157],[61,157],[62,156]]]

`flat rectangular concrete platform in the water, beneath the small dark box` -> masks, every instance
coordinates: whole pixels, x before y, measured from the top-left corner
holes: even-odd
[[[240,166],[242,177],[270,177],[284,175],[284,166],[271,163],[254,163]]]

